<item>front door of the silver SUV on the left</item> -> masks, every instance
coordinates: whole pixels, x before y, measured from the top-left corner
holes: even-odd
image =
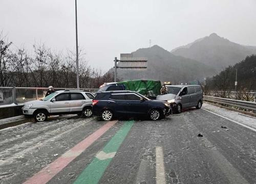
[[[60,93],[55,97],[56,101],[51,101],[51,113],[70,112],[70,95],[69,93]]]

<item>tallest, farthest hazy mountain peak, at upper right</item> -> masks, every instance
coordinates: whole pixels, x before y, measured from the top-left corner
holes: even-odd
[[[246,56],[256,54],[256,47],[240,45],[212,33],[193,43],[175,48],[171,52],[176,56],[210,65],[219,72],[229,65],[242,61]]]

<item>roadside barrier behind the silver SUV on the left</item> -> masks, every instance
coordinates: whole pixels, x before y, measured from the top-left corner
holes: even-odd
[[[77,88],[54,88],[58,90],[77,90]],[[98,89],[94,88],[80,88],[80,90],[87,90],[96,92]],[[48,88],[27,88],[27,87],[0,87],[0,108],[16,106],[24,102],[42,99],[45,97]]]

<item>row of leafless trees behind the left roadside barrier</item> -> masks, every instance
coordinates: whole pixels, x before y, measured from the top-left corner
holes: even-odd
[[[8,42],[0,34],[0,85],[18,87],[76,88],[76,54],[68,50],[64,56],[45,44],[34,44],[34,52],[28,55],[25,48],[10,50]],[[103,72],[88,66],[85,52],[79,50],[79,82],[81,88],[98,88],[114,80],[113,72]],[[117,78],[120,80],[120,78]]]

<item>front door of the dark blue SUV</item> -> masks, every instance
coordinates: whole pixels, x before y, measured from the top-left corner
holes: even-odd
[[[148,102],[147,100],[141,100],[141,96],[131,93],[131,94],[126,94],[125,99],[126,99],[126,111],[127,114],[138,116],[138,115],[145,115],[147,114],[147,106]]]

